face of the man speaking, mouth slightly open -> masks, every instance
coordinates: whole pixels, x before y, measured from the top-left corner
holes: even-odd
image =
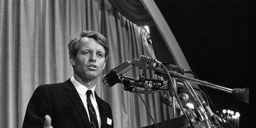
[[[70,57],[70,63],[74,66],[74,74],[83,81],[91,81],[105,68],[105,49],[93,38],[84,37],[80,42],[76,58]]]

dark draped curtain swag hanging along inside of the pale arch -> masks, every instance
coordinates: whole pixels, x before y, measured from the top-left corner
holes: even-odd
[[[140,0],[108,0],[128,20],[138,25],[149,26],[153,49],[160,62],[176,64],[166,43]]]

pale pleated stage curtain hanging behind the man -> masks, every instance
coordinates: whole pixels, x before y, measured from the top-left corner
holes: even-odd
[[[68,41],[82,30],[106,36],[110,52],[106,74],[125,60],[154,55],[146,30],[120,14],[107,0],[0,0],[0,126],[20,128],[26,106],[40,84],[64,82],[73,74]],[[156,78],[154,72],[132,68],[126,76]],[[102,77],[102,76],[101,76]],[[97,94],[112,107],[116,128],[153,124],[138,94],[122,84],[108,87],[102,79]],[[141,94],[156,122],[173,118],[160,102],[164,91]]]

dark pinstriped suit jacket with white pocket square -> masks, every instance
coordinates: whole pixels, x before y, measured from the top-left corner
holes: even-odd
[[[97,96],[101,128],[113,128],[110,105]],[[43,128],[45,115],[52,118],[53,128],[90,128],[84,104],[76,88],[68,79],[63,83],[40,85],[28,103],[22,128]],[[107,124],[107,118],[112,125]]]

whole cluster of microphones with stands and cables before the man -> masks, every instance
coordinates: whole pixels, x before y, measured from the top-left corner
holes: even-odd
[[[124,74],[133,67],[138,67],[140,69],[154,70],[156,75],[163,78],[168,78],[168,80],[165,81],[165,80],[155,80],[151,78],[145,78],[143,73],[141,73],[139,76],[136,76],[136,77],[124,76]],[[175,104],[174,104],[175,101],[170,96],[167,96],[166,94],[164,94],[161,98],[161,101],[164,104],[170,107],[175,107],[177,110],[179,110],[180,113],[178,114],[178,116],[182,116],[184,114],[188,122],[190,122],[190,125],[194,128],[197,128],[196,126],[198,125],[200,120],[201,121],[206,120],[205,123],[207,128],[213,128],[214,126],[217,126],[214,128],[233,128],[233,126],[230,125],[227,120],[225,120],[226,118],[223,119],[221,118],[220,115],[214,114],[210,109],[210,107],[208,106],[208,104],[206,104],[206,102],[200,95],[195,96],[197,95],[197,93],[193,91],[194,87],[192,87],[189,83],[187,83],[186,80],[190,80],[192,82],[202,84],[202,85],[206,84],[208,86],[214,86],[213,88],[215,89],[216,88],[218,89],[219,86],[211,84],[206,81],[202,81],[198,79],[195,80],[193,78],[184,76],[185,73],[193,73],[193,72],[190,70],[186,70],[180,66],[172,65],[167,62],[159,62],[155,58],[142,55],[140,59],[134,59],[131,62],[126,60],[122,64],[110,70],[108,73],[106,73],[102,77],[102,82],[110,87],[114,86],[117,83],[123,84],[124,90],[130,91],[130,92],[138,92],[137,89],[134,89],[135,86],[140,88],[150,89],[150,90],[164,90],[166,89],[166,87],[168,87],[168,89],[166,90],[168,90],[170,94],[171,93],[169,90],[170,87],[171,88],[173,87],[172,90],[174,92],[177,92],[177,88],[176,90],[174,89],[175,86],[169,86],[170,84],[172,85],[176,84],[176,82],[174,82],[173,84],[171,77],[178,78],[178,79],[180,78],[181,81],[183,81],[183,83],[186,85],[185,86],[186,89],[189,90],[190,92],[189,91],[186,92],[186,89],[185,89],[185,91],[181,92],[179,95],[177,93],[175,95],[172,94],[172,96],[176,96],[176,98],[178,98],[177,100],[179,101],[178,103],[175,103]],[[184,81],[184,79],[186,80]],[[220,90],[224,90],[224,89],[220,87]],[[240,101],[248,103],[248,97],[249,97],[248,88],[244,88],[244,89],[234,88],[233,90],[228,88],[228,90],[224,90],[224,91],[232,93],[232,95],[240,99]],[[193,100],[190,100],[190,97]],[[187,115],[189,116],[190,120],[188,119]],[[199,121],[198,121],[198,117],[200,118]],[[199,126],[198,128],[201,128],[201,127]]]

